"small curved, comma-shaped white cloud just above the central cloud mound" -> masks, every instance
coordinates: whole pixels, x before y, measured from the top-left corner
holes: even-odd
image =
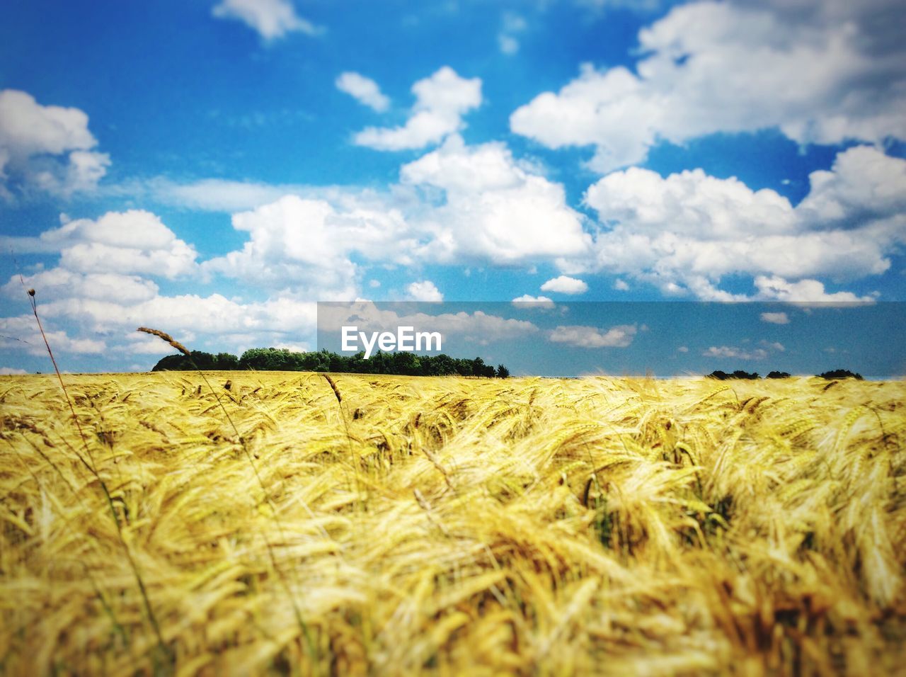
[[[462,116],[481,104],[481,79],[465,79],[449,66],[412,85],[415,106],[402,127],[369,127],[355,143],[376,150],[411,150],[438,143],[463,128]]]

